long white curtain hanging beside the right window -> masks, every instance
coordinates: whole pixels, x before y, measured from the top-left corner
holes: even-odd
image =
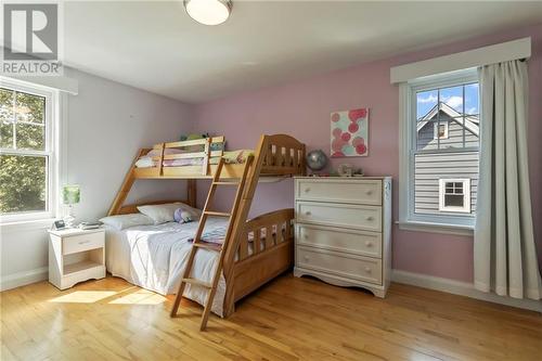
[[[479,72],[475,287],[501,296],[541,299],[527,166],[527,62],[487,65]]]

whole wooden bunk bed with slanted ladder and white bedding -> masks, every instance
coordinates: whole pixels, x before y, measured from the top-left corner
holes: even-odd
[[[159,143],[152,149],[140,150],[108,211],[108,216],[138,214],[139,205],[124,205],[137,180],[186,180],[188,201],[184,203],[191,207],[196,206],[197,179],[212,180],[212,184],[241,184],[237,190],[241,193],[237,193],[240,196],[236,196],[231,214],[207,208],[203,216],[205,220],[209,215],[227,215],[233,222],[229,228],[231,233],[224,236],[227,242],[220,268],[222,278],[211,307],[211,311],[221,317],[233,313],[237,300],[293,268],[294,209],[280,209],[248,219],[259,180],[280,180],[306,173],[306,146],[291,136],[262,134],[254,151],[224,152],[224,137],[212,137]],[[211,186],[207,201],[214,194],[212,190]],[[165,203],[168,202],[155,202]],[[205,225],[209,229],[204,232],[225,229],[225,223],[220,220],[211,220]],[[190,263],[190,238],[196,236],[196,229],[197,223],[194,222],[134,227],[121,233],[108,231],[107,269],[114,275],[157,293],[176,293],[183,270]],[[198,274],[185,275],[184,280],[188,278],[195,284],[188,285],[183,296],[204,305],[205,292],[197,283],[208,287],[217,258],[216,252],[197,252],[192,273]],[[179,299],[173,304],[172,315]],[[208,313],[204,312],[202,327],[205,327],[205,314]]]

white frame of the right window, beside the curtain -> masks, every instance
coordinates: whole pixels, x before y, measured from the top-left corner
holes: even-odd
[[[399,86],[399,225],[404,230],[472,235],[474,215],[415,214],[414,152],[416,151],[416,92],[479,81],[476,68],[439,74]],[[456,149],[450,152],[457,152]],[[447,152],[442,150],[441,152]]]

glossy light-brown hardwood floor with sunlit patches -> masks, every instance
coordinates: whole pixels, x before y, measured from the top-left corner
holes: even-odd
[[[1,360],[541,360],[540,313],[392,284],[386,299],[287,274],[228,320],[120,279],[3,292]]]

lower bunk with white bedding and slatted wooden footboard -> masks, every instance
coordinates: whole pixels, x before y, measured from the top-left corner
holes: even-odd
[[[137,209],[136,206],[129,206]],[[126,215],[131,217],[131,215]],[[261,215],[246,222],[233,259],[232,276],[222,274],[211,311],[228,317],[234,302],[293,267],[293,209]],[[188,262],[198,222],[139,224],[119,229],[106,222],[106,268],[112,275],[162,295],[177,293]],[[210,217],[203,240],[214,242],[223,234],[228,221]],[[122,228],[122,227],[120,227]],[[206,235],[208,234],[208,235]],[[270,235],[270,236],[268,236]],[[210,282],[218,254],[202,249],[196,254],[193,276]],[[183,297],[204,305],[204,287],[188,285]]]

